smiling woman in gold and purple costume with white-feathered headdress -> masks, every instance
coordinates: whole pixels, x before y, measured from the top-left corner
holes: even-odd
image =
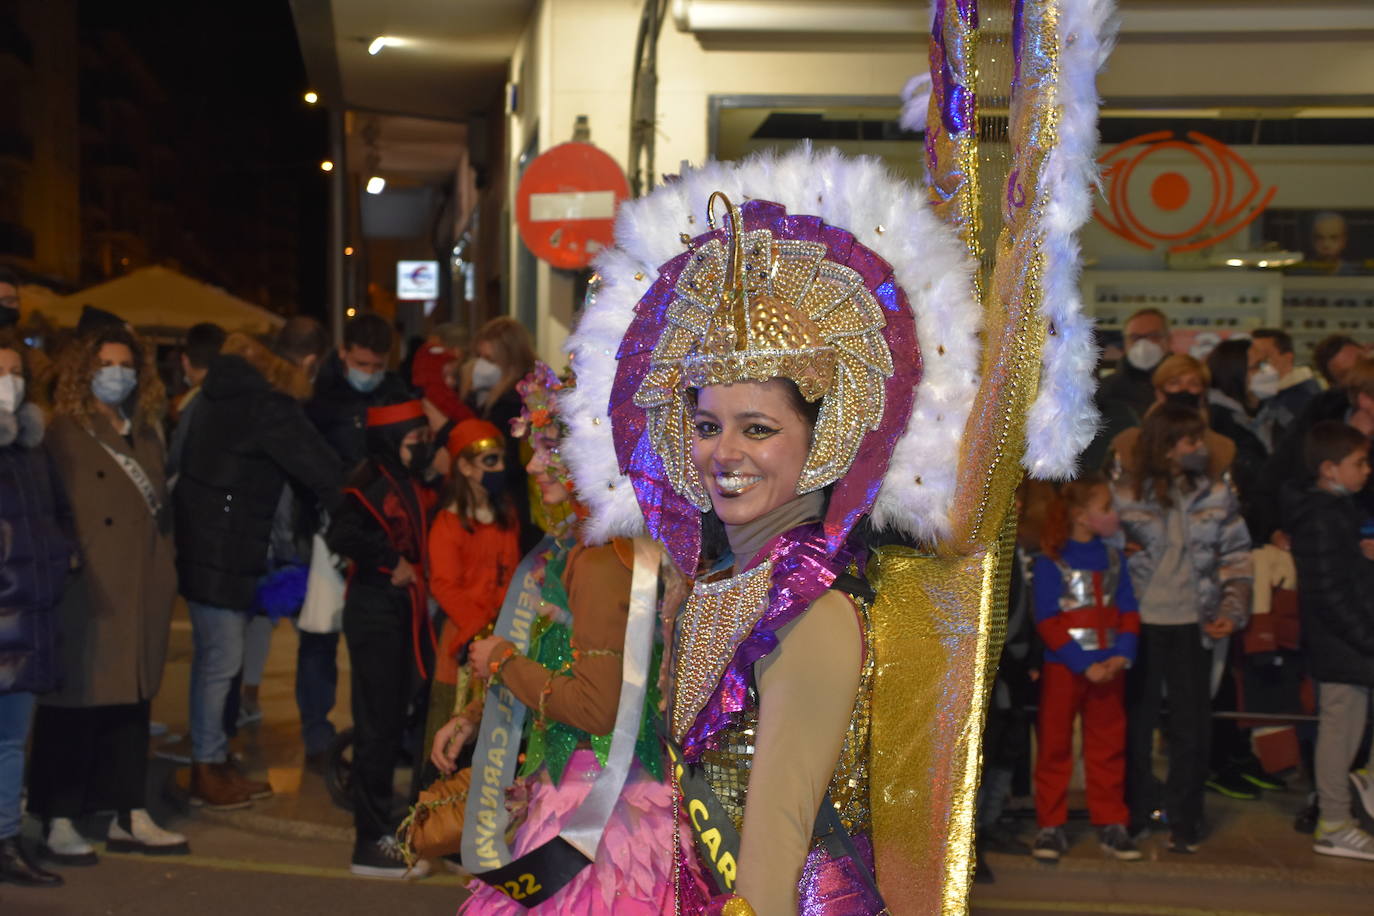
[[[675,912],[967,911],[1009,508],[1094,428],[1073,232],[1105,10],[936,4],[929,191],[801,150],[617,216],[562,450],[587,537],[647,531],[695,578]]]

